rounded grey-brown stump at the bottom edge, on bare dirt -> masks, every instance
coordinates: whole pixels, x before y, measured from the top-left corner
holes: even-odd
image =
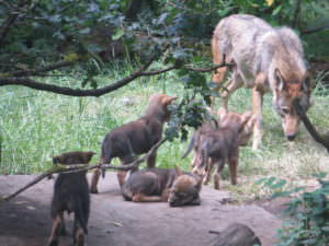
[[[222,231],[208,246],[261,246],[254,232],[247,225],[234,223]]]

